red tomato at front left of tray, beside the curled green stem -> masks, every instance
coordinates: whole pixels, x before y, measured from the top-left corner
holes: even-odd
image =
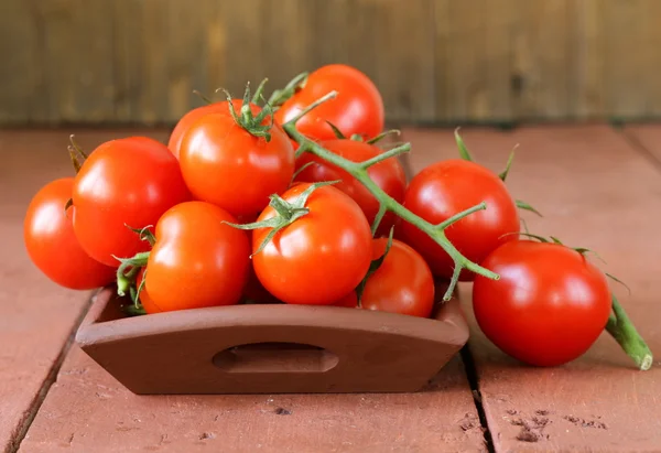
[[[249,272],[250,240],[226,211],[205,202],[169,209],[156,225],[144,288],[161,311],[237,303]]]

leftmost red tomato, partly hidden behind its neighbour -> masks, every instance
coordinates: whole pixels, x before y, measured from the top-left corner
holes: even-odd
[[[74,235],[71,208],[73,177],[43,186],[30,202],[23,238],[32,262],[48,279],[73,290],[90,290],[115,280],[116,269],[91,259]]]

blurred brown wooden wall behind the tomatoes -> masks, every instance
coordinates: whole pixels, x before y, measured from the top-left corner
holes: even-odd
[[[661,117],[661,0],[0,0],[0,125],[172,123],[330,62],[391,121]]]

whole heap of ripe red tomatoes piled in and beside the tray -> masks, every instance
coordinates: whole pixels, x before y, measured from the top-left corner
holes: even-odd
[[[408,183],[395,155],[379,160],[383,104],[365,74],[328,65],[268,103],[261,89],[188,111],[167,145],[131,137],[87,157],[72,141],[75,177],[44,186],[26,214],[34,263],[66,288],[117,280],[148,314],[252,302],[427,317],[434,282],[460,262],[398,211],[438,225],[484,202],[444,234],[462,259],[500,277],[458,274],[474,280],[486,335],[524,362],[557,365],[604,330],[605,276],[579,250],[520,238],[505,175],[464,153]],[[307,111],[332,90],[335,98]],[[342,162],[373,160],[360,170],[371,187],[340,161],[308,152],[311,143]],[[384,199],[398,207],[381,218]]]

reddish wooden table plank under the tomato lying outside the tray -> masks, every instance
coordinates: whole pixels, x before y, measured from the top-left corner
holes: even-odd
[[[405,131],[415,170],[456,157],[452,131]],[[508,185],[545,217],[529,227],[585,246],[631,287],[614,290],[652,352],[661,350],[655,262],[650,240],[661,211],[661,175],[646,157],[606,126],[523,128],[513,132],[466,129],[476,159],[500,170],[520,143]],[[577,159],[581,157],[581,159]],[[470,352],[496,451],[653,451],[661,445],[661,368],[638,371],[606,334],[582,358],[557,368],[532,368],[506,357],[475,324],[470,287],[462,287],[473,323]],[[548,423],[538,442],[519,440],[521,425]],[[548,435],[548,438],[546,438]]]

